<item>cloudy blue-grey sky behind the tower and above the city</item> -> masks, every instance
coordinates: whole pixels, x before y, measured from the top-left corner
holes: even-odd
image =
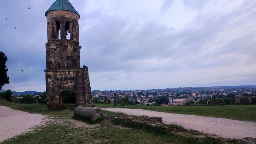
[[[46,90],[44,14],[54,1],[0,1],[5,89]],[[92,90],[256,84],[255,0],[70,2]]]

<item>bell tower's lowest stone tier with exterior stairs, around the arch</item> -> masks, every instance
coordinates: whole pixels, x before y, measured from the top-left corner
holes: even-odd
[[[87,66],[76,70],[45,70],[47,107],[62,108],[62,92],[71,90],[76,96],[76,105],[83,106],[91,103],[91,87]],[[87,76],[84,76],[86,74]]]

